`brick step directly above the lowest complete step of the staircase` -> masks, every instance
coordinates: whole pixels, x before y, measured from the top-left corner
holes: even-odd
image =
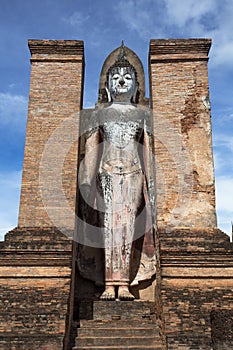
[[[79,328],[78,329],[78,337],[84,338],[84,337],[134,337],[134,336],[152,336],[152,335],[158,335],[159,336],[159,330],[158,328],[152,328],[152,327],[141,327],[141,328]]]

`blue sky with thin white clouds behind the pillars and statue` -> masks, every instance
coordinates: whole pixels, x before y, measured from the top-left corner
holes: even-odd
[[[103,61],[122,39],[147,74],[150,39],[212,38],[209,84],[218,226],[230,234],[232,0],[1,0],[0,33],[0,239],[17,225],[30,79],[28,39],[84,40],[85,108],[96,102]]]

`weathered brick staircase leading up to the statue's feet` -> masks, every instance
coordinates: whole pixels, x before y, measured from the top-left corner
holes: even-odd
[[[93,319],[80,319],[77,335],[73,350],[165,349],[153,302],[94,301]]]

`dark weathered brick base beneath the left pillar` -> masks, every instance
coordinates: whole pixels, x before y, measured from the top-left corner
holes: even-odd
[[[0,248],[0,348],[67,349],[72,241],[55,228],[17,228]]]

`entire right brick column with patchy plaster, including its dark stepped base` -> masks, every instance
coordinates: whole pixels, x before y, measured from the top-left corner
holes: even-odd
[[[233,249],[229,237],[216,228],[210,45],[210,39],[150,43],[157,305],[168,350],[217,349],[220,341],[230,341],[230,336],[219,336],[216,321],[224,315],[221,310],[233,307]]]

